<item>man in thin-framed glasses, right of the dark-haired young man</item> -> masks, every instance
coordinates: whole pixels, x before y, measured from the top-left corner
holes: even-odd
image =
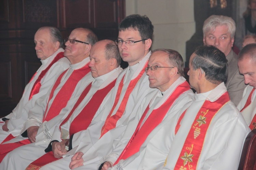
[[[164,122],[173,124],[169,133],[175,135],[182,114],[179,113],[180,109],[187,108],[187,103],[194,99],[194,93],[183,77],[183,69],[183,59],[177,51],[171,49],[152,51],[145,70],[150,87],[157,88],[158,92],[152,100],[150,97],[152,94],[143,99],[136,117],[129,121],[124,134],[114,141],[112,153],[103,157],[102,162],[105,163],[102,170],[112,166],[122,169],[126,159],[139,152],[148,135],[156,127],[161,127]],[[137,169],[137,163],[142,159],[143,152],[138,155],[131,163],[133,168],[129,169]]]

